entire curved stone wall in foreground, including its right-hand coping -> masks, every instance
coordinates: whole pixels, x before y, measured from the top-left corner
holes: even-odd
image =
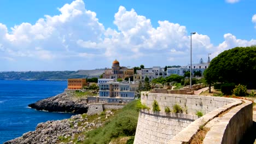
[[[158,101],[162,111],[154,113],[150,110],[143,110],[139,113],[135,143],[189,143],[199,131],[200,125],[213,122],[212,128],[214,130],[215,121],[213,120],[230,109],[222,116],[223,120],[220,122],[226,124],[226,127],[223,125],[218,127],[217,125],[216,131],[212,132],[220,137],[220,141],[212,143],[227,143],[231,140],[233,140],[231,143],[237,143],[249,125],[252,124],[252,102],[247,100],[243,100],[246,101],[243,102],[240,99],[224,97],[142,92],[141,102],[150,107],[151,110],[154,100]],[[165,107],[168,106],[171,109],[174,104],[181,105],[191,115],[170,113],[171,116],[167,116],[164,114]],[[196,119],[195,113],[197,111],[203,112],[204,116]],[[218,132],[221,128],[223,133]],[[209,132],[209,134],[211,133]],[[208,137],[212,141],[214,135]]]

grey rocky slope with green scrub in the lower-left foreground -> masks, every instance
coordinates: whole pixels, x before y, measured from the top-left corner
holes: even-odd
[[[4,142],[4,144],[64,143],[65,140],[69,143],[83,142],[86,139],[84,135],[86,131],[101,127],[106,122],[106,118],[112,115],[112,111],[106,111],[104,115],[92,120],[88,119],[86,114],[79,114],[69,119],[39,123],[35,131],[28,131],[16,139]]]

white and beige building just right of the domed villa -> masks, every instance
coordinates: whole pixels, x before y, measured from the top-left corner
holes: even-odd
[[[137,70],[136,74],[133,75],[133,81],[144,81],[148,77],[149,81],[156,79],[158,77],[166,77],[167,73],[164,68],[153,67]]]

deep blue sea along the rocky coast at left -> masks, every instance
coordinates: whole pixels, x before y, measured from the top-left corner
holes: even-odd
[[[67,81],[0,80],[0,143],[35,130],[40,122],[64,119],[71,113],[45,112],[27,105],[62,93]]]

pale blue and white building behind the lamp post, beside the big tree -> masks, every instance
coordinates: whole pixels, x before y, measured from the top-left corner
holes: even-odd
[[[197,63],[192,64],[192,74],[194,75],[196,71],[200,72],[203,75],[203,71],[205,71],[209,67],[210,63]],[[167,68],[167,76],[170,76],[172,74],[177,74],[180,76],[184,76],[184,74],[190,71],[190,64],[184,67],[179,68]]]

